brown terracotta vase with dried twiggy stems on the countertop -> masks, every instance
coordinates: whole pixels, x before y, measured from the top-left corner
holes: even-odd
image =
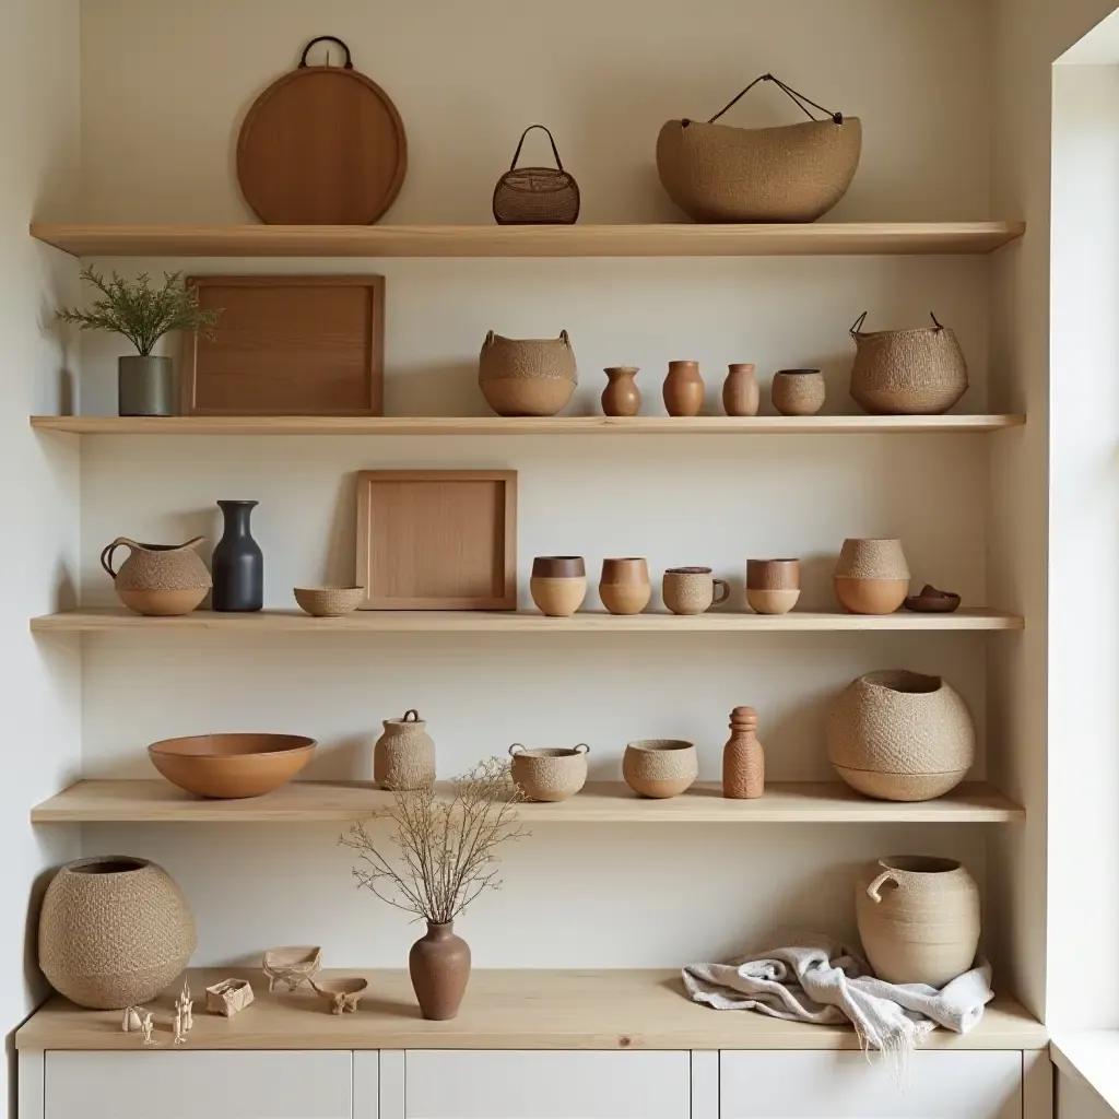
[[[524,800],[509,765],[490,758],[436,791],[433,780],[393,790],[380,812],[389,822],[389,858],[361,822],[339,840],[357,852],[354,877],[382,901],[427,922],[412,946],[408,974],[425,1018],[445,1021],[459,1013],[470,979],[470,946],[454,934],[454,919],[483,891],[498,887],[497,850],[528,833],[517,821]]]

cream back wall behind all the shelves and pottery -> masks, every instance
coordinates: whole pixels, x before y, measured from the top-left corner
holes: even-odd
[[[265,15],[266,13],[266,15]],[[702,0],[687,8],[580,0],[542,21],[514,0],[384,6],[326,0],[200,0],[187,7],[102,0],[83,12],[86,216],[241,220],[232,178],[239,117],[330,30],[395,98],[410,172],[388,215],[486,222],[492,185],[532,120],[553,124],[583,188],[584,220],[673,218],[652,167],[669,115],[712,113],[772,69],[815,100],[863,117],[863,166],[839,219],[986,216],[988,28],[971,0],[774,4]],[[951,58],[950,73],[944,59]],[[143,95],[138,96],[137,91]],[[793,120],[772,91],[741,123]],[[139,137],[169,134],[138,159]],[[1012,211],[1010,216],[1015,216]],[[143,262],[158,271],[184,262]],[[140,262],[119,262],[134,270]],[[186,262],[195,271],[333,271],[337,262]],[[345,267],[356,270],[355,262]],[[970,359],[965,407],[987,397],[984,258],[830,261],[391,261],[389,412],[478,413],[478,347],[566,328],[590,411],[603,365],[642,366],[658,411],[669,358],[697,357],[714,401],[728,361],[820,364],[828,411],[845,395],[847,328],[864,309],[882,327],[935,310]],[[111,412],[113,357],[88,339],[83,408]],[[846,535],[903,537],[914,579],[981,602],[987,585],[981,438],[85,441],[82,595],[106,601],[98,549],[117,534],[182,540],[216,530],[213,502],[261,500],[266,596],[297,582],[348,577],[352,471],[377,466],[508,466],[520,472],[521,584],[534,554],[646,554],[656,571],[708,563],[736,580],[747,555],[810,560],[806,605],[828,602],[830,557]],[[985,723],[977,634],[773,639],[534,638],[344,640],[103,638],[86,642],[85,765],[147,772],[143,745],[237,727],[319,736],[312,775],[367,775],[379,721],[419,706],[446,775],[514,740],[585,740],[595,775],[617,777],[629,739],[693,736],[714,777],[732,706],[753,703],[775,779],[827,777],[826,697],[858,673],[943,671]],[[1010,641],[1013,636],[994,637]],[[982,763],[977,773],[981,775]],[[507,888],[468,914],[481,966],[674,966],[724,955],[794,921],[850,934],[861,861],[899,850],[956,853],[985,880],[981,829],[547,828],[509,857]],[[330,963],[399,966],[414,928],[350,891],[333,829],[87,827],[90,850],[152,855],[184,883],[199,916],[200,962],[313,940]]]

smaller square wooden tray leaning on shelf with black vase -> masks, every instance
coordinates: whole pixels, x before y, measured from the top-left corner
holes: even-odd
[[[515,470],[357,476],[363,610],[516,610]]]

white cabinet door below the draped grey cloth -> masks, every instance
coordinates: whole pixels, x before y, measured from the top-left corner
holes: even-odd
[[[723,1052],[721,1119],[1022,1119],[1022,1053],[924,1052],[899,1088],[881,1057]]]

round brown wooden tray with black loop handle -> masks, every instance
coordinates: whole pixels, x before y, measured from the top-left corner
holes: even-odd
[[[325,39],[346,51],[342,66],[307,64]],[[396,106],[329,35],[256,98],[237,140],[241,190],[267,225],[370,225],[393,205],[406,169]]]

